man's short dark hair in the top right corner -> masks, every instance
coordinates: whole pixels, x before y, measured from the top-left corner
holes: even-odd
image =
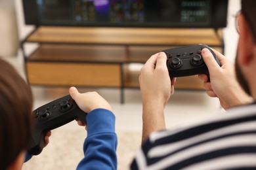
[[[255,20],[255,10],[256,1],[255,0],[242,0],[242,13],[244,14],[247,23],[251,27],[251,33],[253,34],[253,40],[256,44],[256,20]]]

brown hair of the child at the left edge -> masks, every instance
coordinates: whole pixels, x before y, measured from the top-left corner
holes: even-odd
[[[0,58],[0,169],[7,169],[28,148],[32,105],[30,86]]]

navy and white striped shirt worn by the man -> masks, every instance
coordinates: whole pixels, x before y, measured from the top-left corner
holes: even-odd
[[[131,169],[256,169],[256,103],[152,133]]]

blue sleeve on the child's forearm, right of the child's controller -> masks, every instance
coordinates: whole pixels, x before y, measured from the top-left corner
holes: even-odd
[[[85,158],[77,169],[117,169],[115,116],[110,110],[95,109],[87,114]]]

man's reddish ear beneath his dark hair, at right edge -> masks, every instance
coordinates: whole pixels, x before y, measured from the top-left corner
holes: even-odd
[[[244,14],[238,16],[240,38],[238,42],[238,63],[247,65],[253,58],[253,34]]]

